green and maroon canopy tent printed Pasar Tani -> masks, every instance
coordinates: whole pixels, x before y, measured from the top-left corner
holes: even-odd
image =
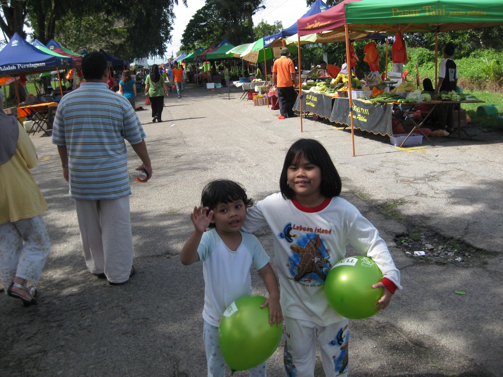
[[[503,25],[501,0],[344,0],[319,14],[297,21],[300,37],[326,31],[346,34],[346,63],[350,66],[350,31],[375,33],[439,33]],[[437,39],[436,39],[437,41]],[[438,51],[437,46],[435,47]],[[437,58],[435,59],[437,66]],[[300,62],[300,48],[299,48]],[[353,102],[349,81],[349,106],[353,156],[355,156]],[[302,108],[301,108],[302,114]],[[302,116],[300,117],[302,130]]]

